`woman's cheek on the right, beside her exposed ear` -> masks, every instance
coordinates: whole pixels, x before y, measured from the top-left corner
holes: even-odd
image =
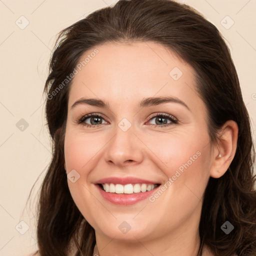
[[[150,201],[168,223],[169,217],[184,221],[203,200],[203,193],[209,178],[210,148],[207,133],[183,133],[183,136],[158,137],[151,142],[150,149],[157,155],[158,167],[165,174],[161,191],[156,191]],[[159,199],[158,199],[159,198]],[[163,204],[166,198],[168,204]],[[184,207],[184,205],[186,207]],[[180,213],[182,210],[182,214]],[[172,225],[170,223],[170,225]]]

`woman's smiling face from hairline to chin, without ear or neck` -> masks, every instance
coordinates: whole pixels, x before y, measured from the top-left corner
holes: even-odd
[[[75,204],[96,236],[196,232],[212,156],[192,67],[153,42],[95,48],[69,91],[64,157]]]

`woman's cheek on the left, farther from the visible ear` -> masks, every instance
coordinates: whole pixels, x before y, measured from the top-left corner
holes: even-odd
[[[84,135],[74,129],[66,129],[64,142],[66,171],[68,173],[74,169],[80,175],[75,182],[68,180],[68,188],[76,206],[93,226],[96,226],[94,219],[96,214],[93,207],[87,205],[95,204],[95,198],[88,192],[91,188],[90,184],[88,186],[88,183],[90,183],[88,177],[90,171],[95,168],[96,157],[102,146],[103,140],[98,135]],[[100,219],[100,216],[98,216],[98,219]]]

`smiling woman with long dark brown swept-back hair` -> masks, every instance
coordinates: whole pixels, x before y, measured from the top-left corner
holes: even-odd
[[[171,0],[120,0],[60,32],[38,253],[256,254],[254,149],[229,50]]]

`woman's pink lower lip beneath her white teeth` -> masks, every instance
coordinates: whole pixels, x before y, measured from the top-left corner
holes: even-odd
[[[96,185],[100,194],[108,201],[115,204],[133,204],[138,201],[144,200],[150,196],[159,186],[156,186],[154,189],[146,192],[132,193],[132,194],[117,194],[109,193],[101,189],[100,185]]]

